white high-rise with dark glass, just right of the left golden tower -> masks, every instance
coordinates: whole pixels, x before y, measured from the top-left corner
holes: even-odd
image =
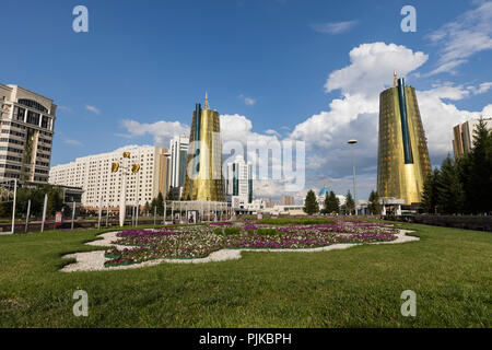
[[[241,196],[248,203],[253,201],[253,166],[242,155],[227,164],[227,195]]]

